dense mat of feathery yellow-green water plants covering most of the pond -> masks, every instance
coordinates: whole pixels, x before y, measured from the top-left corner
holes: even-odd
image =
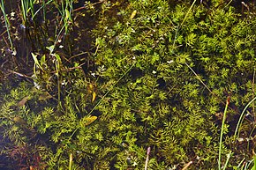
[[[253,120],[233,135],[255,95],[255,19],[216,2],[122,3],[102,2],[97,13],[95,70],[49,47],[34,55],[40,89],[2,85],[1,137],[10,143],[1,152],[34,151],[48,169],[143,169],[149,146],[147,169],[216,169],[218,149],[220,166],[230,152],[230,168],[252,159],[237,138],[251,137]]]

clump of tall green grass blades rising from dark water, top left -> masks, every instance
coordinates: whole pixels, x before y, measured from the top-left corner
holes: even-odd
[[[57,44],[64,41],[65,35],[68,37],[69,31],[72,30],[72,26],[74,24],[72,20],[74,17],[72,16],[72,5],[75,3],[72,0],[50,0],[47,2],[21,0],[20,3],[9,3],[11,6],[19,7],[17,9],[11,9],[10,6],[6,5],[8,3],[4,3],[4,1],[1,1],[0,6],[4,16],[4,24],[8,35],[7,38],[10,42],[13,54],[15,54],[14,49],[19,48],[19,43],[17,44],[16,41],[20,40],[25,41],[25,46],[28,46],[26,48],[29,49],[30,46],[32,48],[26,53],[30,53],[31,51],[44,51],[46,50],[46,47],[50,47],[52,45],[54,50]],[[5,12],[6,6],[8,8],[7,11],[11,11],[10,14]],[[17,14],[18,18],[11,16],[14,14]],[[49,19],[52,18],[54,19],[49,21]],[[51,25],[52,22],[56,22],[56,25]],[[65,41],[67,40],[65,39]],[[71,51],[71,47],[69,47],[69,50]],[[28,60],[28,56],[26,56],[26,62]]]

